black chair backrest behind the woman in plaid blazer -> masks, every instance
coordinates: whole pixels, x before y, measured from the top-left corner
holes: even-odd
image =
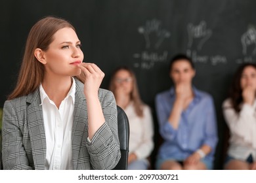
[[[121,158],[117,163],[114,170],[127,170],[128,154],[129,154],[129,137],[130,128],[129,120],[123,111],[123,109],[117,106],[117,125],[118,125],[118,137],[121,150]]]

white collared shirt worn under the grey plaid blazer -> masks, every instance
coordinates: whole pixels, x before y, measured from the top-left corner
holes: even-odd
[[[43,86],[40,85],[43,122],[45,125],[47,170],[71,170],[72,165],[72,124],[75,103],[75,80],[59,109],[49,99]]]

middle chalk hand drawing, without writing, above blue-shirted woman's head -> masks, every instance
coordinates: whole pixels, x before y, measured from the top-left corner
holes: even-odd
[[[201,50],[203,44],[211,37],[211,29],[207,29],[205,21],[201,21],[200,24],[194,25],[188,24],[188,48],[192,47],[194,41],[198,40],[197,49]]]

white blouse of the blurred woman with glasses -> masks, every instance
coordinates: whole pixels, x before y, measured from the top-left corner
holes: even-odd
[[[150,108],[144,105],[142,118],[137,116],[133,103],[124,110],[130,125],[129,153],[135,153],[138,159],[147,158],[154,148],[154,127]]]

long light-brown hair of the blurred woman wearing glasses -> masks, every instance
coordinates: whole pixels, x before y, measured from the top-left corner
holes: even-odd
[[[143,107],[144,103],[142,103],[142,101],[140,99],[139,89],[137,86],[137,79],[136,79],[135,73],[133,73],[133,71],[131,69],[129,69],[128,67],[125,67],[125,66],[118,67],[112,73],[112,76],[110,78],[109,90],[114,93],[114,90],[115,90],[114,82],[115,82],[116,73],[121,70],[125,70],[131,75],[131,78],[133,80],[133,90],[131,91],[131,101],[133,101],[133,105],[135,107],[136,114],[140,117],[143,117],[143,108],[142,107]]]

